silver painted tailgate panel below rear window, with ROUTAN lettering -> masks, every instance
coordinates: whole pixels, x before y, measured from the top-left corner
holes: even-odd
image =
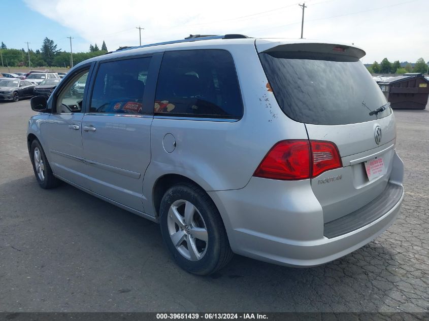
[[[323,208],[324,222],[345,216],[375,199],[385,189],[395,145],[394,117],[341,126],[306,125],[310,139],[333,141],[338,147],[342,168],[326,171],[311,180],[314,195]],[[375,141],[375,128],[382,131]],[[368,177],[365,163],[382,159],[384,173]]]

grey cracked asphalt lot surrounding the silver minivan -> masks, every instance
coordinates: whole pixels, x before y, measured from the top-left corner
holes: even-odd
[[[210,277],[178,268],[156,224],[67,184],[40,189],[29,101],[0,110],[0,311],[429,311],[429,107],[394,111],[406,194],[380,237],[315,268],[235,256]]]

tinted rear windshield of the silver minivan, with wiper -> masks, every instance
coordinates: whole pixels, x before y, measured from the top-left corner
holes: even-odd
[[[261,53],[260,59],[280,108],[295,121],[345,125],[391,114],[386,105],[378,115],[369,115],[387,101],[357,59],[287,52]]]

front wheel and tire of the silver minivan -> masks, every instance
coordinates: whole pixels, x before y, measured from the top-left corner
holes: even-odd
[[[51,166],[46,159],[45,152],[39,140],[35,139],[31,142],[30,151],[31,163],[40,187],[44,189],[57,187],[59,180],[52,173]]]

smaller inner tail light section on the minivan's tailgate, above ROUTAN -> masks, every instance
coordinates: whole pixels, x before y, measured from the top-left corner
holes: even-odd
[[[313,155],[312,177],[326,170],[343,167],[337,146],[331,141],[310,140]]]

